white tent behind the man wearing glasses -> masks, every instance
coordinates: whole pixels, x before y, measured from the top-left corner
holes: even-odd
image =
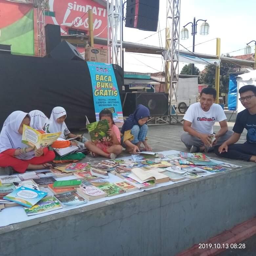
[[[236,81],[237,81],[237,99],[236,99],[237,109],[236,109],[236,111],[237,111],[237,113],[239,113],[245,109],[245,107],[242,105],[242,103],[239,100],[239,98],[240,98],[239,89],[248,84],[256,85],[256,70],[253,70],[249,73],[245,73],[243,75],[238,75]]]

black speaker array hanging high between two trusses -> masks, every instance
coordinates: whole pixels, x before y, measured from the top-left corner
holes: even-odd
[[[157,31],[159,0],[127,0],[125,27]]]

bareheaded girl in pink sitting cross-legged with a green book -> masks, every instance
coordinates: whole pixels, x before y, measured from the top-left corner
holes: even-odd
[[[108,136],[104,138],[104,140],[96,139],[94,142],[88,141],[86,142],[85,146],[91,151],[91,155],[93,157],[101,155],[103,157],[115,159],[123,150],[122,146],[120,145],[120,131],[113,121],[113,115],[110,110],[104,109],[100,111],[99,119],[106,119],[108,121]]]

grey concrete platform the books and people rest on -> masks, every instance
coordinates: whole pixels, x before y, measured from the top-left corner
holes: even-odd
[[[149,143],[185,151],[181,132],[151,126]],[[243,167],[2,227],[0,255],[176,255],[256,216],[256,164],[225,161]]]

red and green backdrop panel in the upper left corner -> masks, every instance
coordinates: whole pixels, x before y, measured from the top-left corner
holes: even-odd
[[[0,0],[0,44],[12,54],[34,55],[33,5]]]

